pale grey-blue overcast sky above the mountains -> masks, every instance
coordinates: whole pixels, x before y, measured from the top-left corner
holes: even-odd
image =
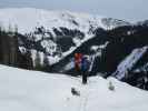
[[[8,7],[80,11],[130,22],[148,19],[148,0],[0,0],[0,8]]]

